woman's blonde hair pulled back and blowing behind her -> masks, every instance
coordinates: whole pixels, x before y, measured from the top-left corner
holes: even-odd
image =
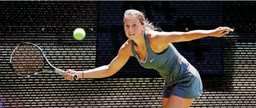
[[[159,29],[155,27],[152,24],[152,22],[150,22],[148,19],[145,19],[145,15],[138,10],[134,10],[134,9],[126,10],[124,15],[129,17],[137,17],[138,20],[141,22],[141,24],[145,25],[145,31],[150,31],[150,30],[154,31]],[[124,20],[125,20],[125,17],[124,17]]]

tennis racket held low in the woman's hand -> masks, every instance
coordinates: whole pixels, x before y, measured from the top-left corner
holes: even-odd
[[[48,63],[49,70],[43,70],[43,66]],[[23,77],[33,77],[41,72],[55,72],[58,75],[65,75],[65,71],[55,68],[46,58],[43,50],[33,43],[21,43],[13,49],[10,55],[10,68],[17,75]],[[76,80],[76,75],[71,75],[73,80]]]

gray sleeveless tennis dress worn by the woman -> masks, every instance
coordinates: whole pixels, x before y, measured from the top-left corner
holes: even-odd
[[[169,47],[163,52],[153,52],[148,36],[145,35],[147,56],[141,61],[134,49],[134,41],[131,43],[131,51],[144,68],[157,70],[164,78],[163,98],[177,95],[181,98],[198,98],[203,93],[203,86],[199,72],[185,59],[177,49],[169,43]]]

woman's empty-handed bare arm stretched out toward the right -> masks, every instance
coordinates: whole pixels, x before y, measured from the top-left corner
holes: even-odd
[[[229,31],[234,31],[229,27],[218,27],[213,30],[194,30],[188,32],[155,32],[155,39],[163,43],[178,43],[183,41],[195,40],[198,38],[204,38],[207,36],[222,37]]]

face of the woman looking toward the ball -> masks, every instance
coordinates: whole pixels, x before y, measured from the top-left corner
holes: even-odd
[[[127,38],[134,40],[143,36],[144,25],[138,20],[137,17],[125,16],[124,20],[125,34]]]

